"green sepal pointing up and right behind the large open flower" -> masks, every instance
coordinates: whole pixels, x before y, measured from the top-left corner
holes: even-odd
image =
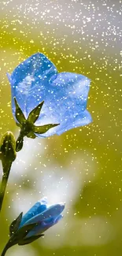
[[[28,121],[31,122],[32,124],[34,124],[35,121],[39,118],[39,114],[43,107],[43,103],[44,103],[44,101],[39,103],[39,105],[36,106],[35,109],[32,109],[31,112],[29,113]]]

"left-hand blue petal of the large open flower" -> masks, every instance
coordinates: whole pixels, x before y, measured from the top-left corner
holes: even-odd
[[[39,92],[56,74],[57,69],[54,64],[44,54],[37,53],[18,65],[11,76],[8,75],[12,87],[12,99],[17,98],[25,117],[43,100],[39,97]],[[13,116],[15,117],[14,102]]]

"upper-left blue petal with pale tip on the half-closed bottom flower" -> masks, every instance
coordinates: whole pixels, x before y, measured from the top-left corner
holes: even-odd
[[[39,213],[43,213],[43,211],[46,210],[46,204],[46,198],[43,198],[40,202],[36,202],[35,205],[32,206],[31,209],[22,217],[20,227],[22,227],[25,222],[29,221],[32,217],[35,217]]]

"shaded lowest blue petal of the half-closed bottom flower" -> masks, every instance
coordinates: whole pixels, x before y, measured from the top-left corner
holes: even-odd
[[[41,223],[38,224],[38,226],[36,226],[35,228],[33,228],[31,230],[31,232],[28,233],[27,237],[30,236],[38,236],[41,235],[43,232],[45,232],[48,228],[54,226],[54,224],[57,224],[58,221],[60,221],[62,219],[62,215],[60,214],[59,216],[57,216],[56,218],[54,217],[50,217],[48,219],[46,219],[46,221],[42,221]]]

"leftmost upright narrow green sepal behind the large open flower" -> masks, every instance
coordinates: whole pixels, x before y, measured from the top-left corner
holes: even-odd
[[[14,102],[15,102],[15,106],[16,106],[15,117],[20,124],[24,124],[24,122],[26,122],[26,119],[25,119],[24,113],[20,109],[20,106],[15,97],[14,97]]]

